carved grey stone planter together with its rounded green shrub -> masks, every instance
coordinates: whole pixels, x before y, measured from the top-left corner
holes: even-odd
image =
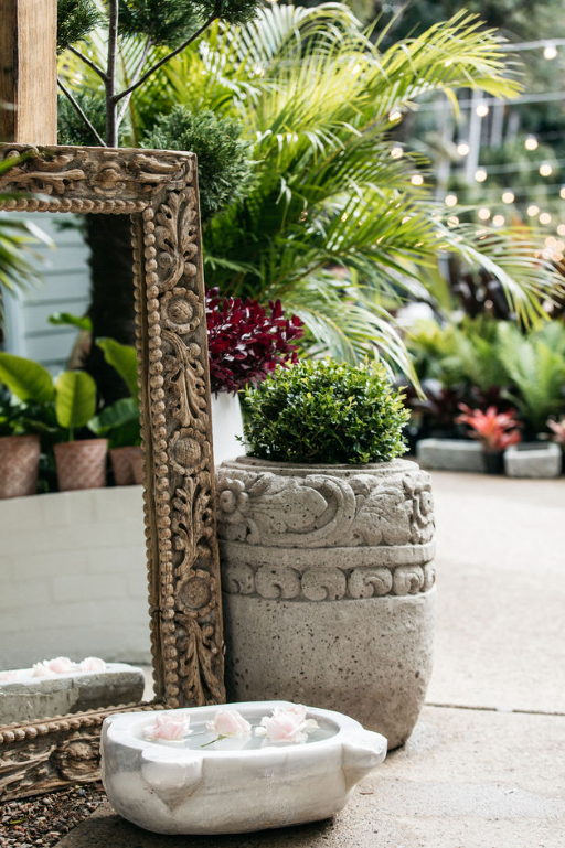
[[[411,734],[431,670],[429,475],[379,365],[306,361],[244,395],[248,455],[216,469],[230,699],[343,710]],[[245,662],[241,662],[245,657]]]

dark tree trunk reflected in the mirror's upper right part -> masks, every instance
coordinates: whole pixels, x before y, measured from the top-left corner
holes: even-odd
[[[90,305],[93,340],[115,339],[136,343],[134,257],[129,215],[87,215],[85,237],[90,248]],[[104,406],[128,397],[129,391],[99,347],[93,344],[85,368],[98,386]]]

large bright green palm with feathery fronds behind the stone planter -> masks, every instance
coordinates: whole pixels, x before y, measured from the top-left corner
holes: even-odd
[[[384,296],[425,290],[438,249],[492,272],[526,321],[558,282],[523,236],[448,226],[449,211],[412,182],[425,163],[394,142],[418,97],[454,100],[459,86],[511,97],[519,85],[504,72],[494,33],[463,12],[383,52],[344,6],[273,4],[245,26],[211,26],[159,72],[134,121],[139,132],[157,105],[178,101],[235,116],[255,181],[205,230],[207,279],[234,297],[280,298],[317,352],[353,362],[376,344],[411,373]]]

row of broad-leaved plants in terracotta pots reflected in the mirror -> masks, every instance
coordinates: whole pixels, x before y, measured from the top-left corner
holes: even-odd
[[[0,353],[4,386],[0,427],[7,432],[0,439],[0,497],[35,493],[42,437],[53,450],[60,491],[104,486],[108,443],[116,483],[142,482],[135,350],[114,340],[104,340],[100,346],[132,394],[99,415],[95,415],[96,385],[85,372],[65,371],[53,378],[32,359]]]

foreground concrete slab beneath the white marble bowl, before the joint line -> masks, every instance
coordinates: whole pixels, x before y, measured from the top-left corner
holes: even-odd
[[[426,707],[333,820],[159,836],[104,804],[57,848],[563,848],[565,717]]]

